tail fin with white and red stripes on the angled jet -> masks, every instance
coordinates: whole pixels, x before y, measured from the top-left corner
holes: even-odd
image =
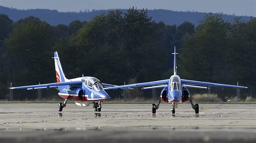
[[[56,79],[57,82],[65,82],[67,81],[67,78],[65,77],[65,74],[63,72],[63,69],[61,67],[61,62],[58,56],[57,52],[54,52],[54,63],[55,63],[55,71],[56,71]]]

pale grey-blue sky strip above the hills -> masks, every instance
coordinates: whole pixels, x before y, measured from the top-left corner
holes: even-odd
[[[59,12],[128,9],[135,6],[137,9],[220,12],[256,17],[256,0],[0,0],[0,5],[24,10],[40,8]]]

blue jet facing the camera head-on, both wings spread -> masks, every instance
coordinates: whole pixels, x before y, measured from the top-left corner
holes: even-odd
[[[176,73],[176,47],[174,47],[174,75],[172,75],[167,80],[158,80],[153,82],[143,82],[137,84],[127,84],[122,86],[106,87],[104,89],[117,89],[117,88],[131,88],[136,86],[142,86],[141,89],[152,89],[152,88],[163,88],[161,91],[161,96],[159,97],[157,104],[152,104],[152,113],[156,113],[156,109],[159,108],[161,101],[166,103],[172,103],[171,111],[175,114],[175,104],[184,103],[190,101],[192,108],[195,110],[195,113],[199,113],[199,105],[194,104],[192,97],[190,97],[188,88],[202,88],[208,89],[208,86],[219,86],[219,87],[230,87],[230,88],[247,88],[244,86],[235,86],[227,84],[217,84],[211,82],[200,82],[193,80],[183,80],[180,79],[180,76]]]

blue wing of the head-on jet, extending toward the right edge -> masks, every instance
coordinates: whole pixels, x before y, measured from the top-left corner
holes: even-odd
[[[228,85],[228,84],[217,84],[211,82],[200,82],[195,80],[182,80],[182,84],[192,84],[192,85],[206,85],[206,86],[218,86],[218,87],[230,87],[230,88],[247,88],[245,86],[236,86],[236,85]]]

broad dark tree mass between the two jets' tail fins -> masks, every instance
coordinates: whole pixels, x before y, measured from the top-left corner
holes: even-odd
[[[97,15],[69,38],[66,52],[79,57],[70,63],[72,74],[83,73],[112,84],[132,78],[156,80],[165,59],[163,50],[157,48],[157,32],[145,10]]]

